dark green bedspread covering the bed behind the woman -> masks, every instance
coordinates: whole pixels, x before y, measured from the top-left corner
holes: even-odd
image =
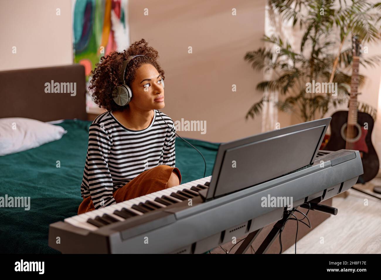
[[[58,140],[0,157],[0,196],[30,197],[30,210],[0,208],[0,253],[59,253],[48,246],[49,224],[77,214],[91,122],[65,120]],[[207,161],[210,176],[219,143],[188,139]],[[61,167],[57,168],[57,161]],[[182,183],[203,177],[201,155],[176,138],[176,167]]]

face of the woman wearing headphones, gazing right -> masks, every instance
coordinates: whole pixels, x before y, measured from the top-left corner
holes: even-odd
[[[131,107],[147,110],[164,108],[162,80],[156,68],[151,64],[143,64],[138,68],[135,79],[131,83],[131,89],[133,94]]]

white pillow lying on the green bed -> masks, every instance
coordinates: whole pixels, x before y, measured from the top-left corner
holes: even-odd
[[[30,118],[0,118],[0,156],[52,142],[67,133],[62,126]]]

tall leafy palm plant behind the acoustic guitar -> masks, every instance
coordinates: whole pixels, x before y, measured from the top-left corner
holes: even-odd
[[[295,112],[302,121],[323,117],[333,106],[345,104],[349,100],[351,84],[352,47],[347,46],[353,34],[362,42],[380,40],[379,22],[381,3],[367,0],[268,0],[282,21],[292,21],[305,30],[298,49],[281,36],[264,36],[270,47],[249,51],[244,59],[257,71],[272,71],[273,78],[256,86],[257,90],[277,91],[281,99],[275,105],[281,111]],[[365,66],[375,66],[381,56],[361,59]],[[360,85],[364,77],[359,75]],[[336,94],[308,90],[311,82],[335,83]],[[246,119],[260,114],[264,102],[269,102],[263,94],[260,101],[253,104]],[[359,102],[359,111],[376,117],[376,109]]]

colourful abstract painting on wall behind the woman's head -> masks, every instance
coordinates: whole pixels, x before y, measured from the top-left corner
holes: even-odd
[[[102,56],[130,45],[128,0],[72,0],[74,63],[85,67],[86,83]],[[86,110],[100,113],[88,95]]]

